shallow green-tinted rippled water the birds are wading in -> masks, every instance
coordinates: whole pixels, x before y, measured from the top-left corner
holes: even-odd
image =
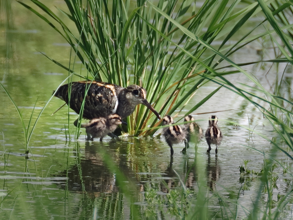
[[[52,5],[65,7],[59,1]],[[52,91],[68,75],[39,52],[68,66],[70,47],[17,2],[11,2],[11,13],[17,15],[11,28],[7,31],[4,26],[0,27],[0,81],[22,111],[27,125],[37,98],[33,122]],[[8,48],[7,53],[5,48]],[[235,54],[233,60],[238,63],[259,60],[255,48],[255,45],[248,45]],[[262,67],[248,66],[246,70],[259,76],[261,83],[269,87],[268,82],[274,83],[276,75],[276,72],[265,75],[269,68],[270,65],[264,64]],[[285,74],[284,80],[288,82],[283,88],[285,97],[292,97],[291,75],[292,71]],[[250,83],[241,74],[228,77],[235,83]],[[213,83],[203,86],[185,112],[215,88],[217,85]],[[251,201],[259,189],[260,176],[240,175],[239,166],[244,166],[244,160],[250,160],[249,170],[260,172],[264,166],[264,155],[252,148],[271,155],[292,173],[292,161],[287,156],[275,152],[264,138],[241,127],[254,129],[269,139],[277,137],[263,114],[225,88],[195,112],[221,111],[214,113],[223,133],[217,156],[215,146],[210,155],[206,154],[207,143],[202,140],[197,151],[191,143],[187,155],[181,153],[183,144],[174,145],[174,155],[170,157],[170,148],[163,137],[159,137],[161,130],[154,137],[122,136],[121,141],[106,137],[100,143],[98,140],[86,141],[85,131],[81,129],[79,139],[73,140],[73,121],[77,117],[73,111],[70,111],[69,141],[68,109],[64,107],[51,116],[63,104],[54,97],[38,120],[29,143],[30,155],[26,158],[21,120],[2,88],[0,103],[0,195],[3,200],[0,219],[133,219],[135,212],[149,219],[178,219],[166,201],[169,190],[180,190],[181,181],[185,179],[185,187],[194,195],[199,191],[199,182],[204,182],[208,189],[205,194],[209,198],[210,219],[214,216],[222,219],[219,199],[213,196],[214,192],[219,193],[227,207],[237,212],[241,219],[246,216],[245,209],[253,206]],[[195,116],[204,131],[210,115]],[[277,201],[278,194],[285,195],[292,189],[292,177],[280,166],[275,168],[273,175],[278,176],[272,195]],[[123,185],[129,187],[128,190],[125,187],[122,190]],[[148,200],[152,190],[155,190],[157,200]],[[237,196],[238,210],[233,200]],[[165,201],[162,202],[164,213],[158,211],[156,202],[159,200]],[[288,204],[288,209],[290,205],[292,203]],[[285,216],[292,217],[292,214]]]

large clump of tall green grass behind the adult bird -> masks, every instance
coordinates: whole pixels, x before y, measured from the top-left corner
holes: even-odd
[[[60,11],[68,19],[62,20],[40,1],[31,1],[47,16],[20,3],[71,45],[86,67],[85,78],[123,87],[139,84],[147,90],[148,101],[162,115],[181,111],[210,78],[245,72],[228,57],[270,33],[248,38],[258,26],[253,27],[239,41],[228,44],[254,14],[260,13],[256,2],[239,9],[239,1],[228,4],[228,1],[207,0],[197,8],[193,1],[160,0],[154,5],[153,1],[137,0],[133,7],[130,0],[114,0],[111,5],[108,1],[65,0],[68,10]],[[221,45],[212,47],[211,44],[219,39]],[[224,71],[216,69],[222,62],[231,66]],[[74,72],[74,67],[69,71]],[[202,77],[203,74],[209,77]],[[137,136],[153,134],[155,130],[145,129],[156,127],[159,122],[146,108],[138,106],[127,124],[128,132]]]

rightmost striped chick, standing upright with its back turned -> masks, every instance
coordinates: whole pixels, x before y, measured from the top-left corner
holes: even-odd
[[[216,154],[218,153],[218,145],[220,145],[222,141],[222,132],[220,131],[217,123],[218,118],[216,116],[212,115],[211,117],[209,117],[209,127],[205,132],[205,138],[207,140],[207,144],[209,145],[207,153],[212,150],[211,144],[217,145],[215,152]]]

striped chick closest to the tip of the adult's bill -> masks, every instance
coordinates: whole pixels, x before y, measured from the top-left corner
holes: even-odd
[[[170,146],[171,156],[174,153],[173,144],[178,144],[184,141],[185,148],[187,147],[187,132],[184,129],[182,129],[179,125],[172,125],[173,123],[173,119],[170,115],[166,115],[163,117],[163,125],[170,125],[169,127],[163,128],[163,134],[166,142]]]

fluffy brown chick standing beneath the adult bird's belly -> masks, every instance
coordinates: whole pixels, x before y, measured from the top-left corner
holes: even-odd
[[[122,123],[126,124],[119,115],[112,114],[108,117],[92,119],[89,123],[82,124],[81,127],[86,128],[87,140],[93,141],[94,138],[100,138],[102,141],[103,137],[115,131]]]

